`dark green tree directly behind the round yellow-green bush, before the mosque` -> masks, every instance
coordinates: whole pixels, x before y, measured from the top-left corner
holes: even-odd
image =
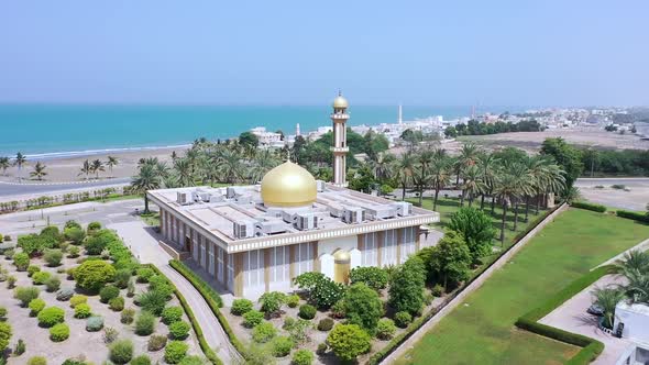
[[[363,283],[352,285],[343,299],[348,323],[374,333],[383,316],[383,302],[376,290]]]

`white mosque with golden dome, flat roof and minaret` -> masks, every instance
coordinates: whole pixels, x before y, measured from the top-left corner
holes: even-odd
[[[150,190],[164,241],[249,299],[290,291],[308,272],[348,283],[354,267],[398,265],[429,245],[422,225],[437,212],[346,188],[348,107],[333,101],[332,182],[286,162],[258,185]]]

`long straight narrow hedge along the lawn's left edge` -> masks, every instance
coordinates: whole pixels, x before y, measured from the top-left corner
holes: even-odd
[[[501,256],[506,254],[513,247],[515,247],[516,243],[518,243],[518,241],[520,241],[526,234],[528,234],[531,230],[534,230],[537,225],[539,225],[548,215],[552,214],[556,210],[561,208],[562,204],[563,203],[560,203],[557,207],[552,208],[551,210],[544,211],[539,217],[537,217],[535,220],[532,220],[531,223],[527,226],[527,229],[525,231],[518,233],[514,237],[515,244],[510,245],[508,248],[501,252]],[[367,360],[366,364],[376,365],[376,364],[381,363],[385,357],[387,357],[389,354],[392,354],[393,351],[395,351],[402,343],[404,343],[406,340],[408,340],[417,330],[419,330],[424,324],[426,324],[426,322],[428,322],[431,318],[433,318],[435,314],[437,314],[442,308],[444,308],[451,300],[453,300],[453,298],[455,298],[458,295],[460,295],[462,291],[464,291],[464,289],[466,289],[466,287],[469,285],[471,285],[471,283],[473,283],[473,280],[479,278],[482,275],[482,273],[487,270],[496,262],[497,262],[497,259],[495,259],[490,265],[482,267],[479,272],[475,273],[475,275],[470,280],[465,281],[458,290],[455,290],[453,294],[449,295],[442,303],[432,308],[424,316],[418,317],[417,319],[413,320],[413,323],[410,323],[410,325],[408,325],[406,328],[406,331],[394,336],[394,339],[392,339],[383,349],[381,349],[378,352],[376,352],[374,355],[372,355]]]

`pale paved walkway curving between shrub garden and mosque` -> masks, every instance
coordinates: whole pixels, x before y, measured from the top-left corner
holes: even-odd
[[[218,351],[219,357],[226,364],[239,362],[241,358],[239,353],[230,343],[230,339],[202,296],[185,277],[168,265],[170,256],[158,245],[157,234],[141,221],[114,223],[109,224],[108,228],[118,232],[141,263],[155,265],[174,283],[191,307],[207,343]]]

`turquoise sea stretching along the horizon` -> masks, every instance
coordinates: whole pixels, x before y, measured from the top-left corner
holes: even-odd
[[[482,108],[481,112],[514,111]],[[0,155],[30,158],[189,144],[205,136],[229,139],[254,126],[294,134],[329,125],[330,107],[0,106]],[[408,107],[404,120],[471,114],[471,107]],[[352,106],[350,124],[397,121],[397,107]]]

